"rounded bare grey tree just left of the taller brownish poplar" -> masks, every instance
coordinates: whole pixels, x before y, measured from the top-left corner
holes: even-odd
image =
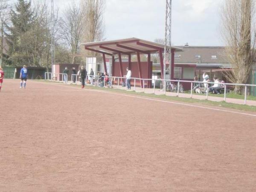
[[[61,19],[61,25],[63,38],[70,48],[72,64],[74,64],[84,34],[84,15],[82,15],[80,7],[75,3],[69,6]]]

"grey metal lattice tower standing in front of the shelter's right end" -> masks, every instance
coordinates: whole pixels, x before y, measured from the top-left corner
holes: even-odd
[[[165,23],[165,41],[164,41],[164,58],[163,58],[163,77],[166,79],[166,72],[169,73],[171,79],[171,63],[172,63],[172,0],[166,0],[166,23]],[[166,71],[166,62],[169,62],[169,69]]]

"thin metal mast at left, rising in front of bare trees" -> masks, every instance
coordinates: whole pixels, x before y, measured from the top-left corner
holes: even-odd
[[[55,65],[55,39],[54,39],[54,6],[53,6],[53,0],[51,0],[51,55],[52,55],[52,73],[55,73],[54,65]],[[54,75],[53,75],[54,76]]]

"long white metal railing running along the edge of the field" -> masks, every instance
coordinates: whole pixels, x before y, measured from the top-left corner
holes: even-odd
[[[57,75],[57,79],[54,79],[56,78],[56,75]],[[52,76],[52,73],[45,73],[45,80],[51,80],[51,81],[60,81],[59,79],[59,76],[62,76],[62,79],[63,79],[63,76],[67,74],[64,74],[64,73],[54,73],[54,75]],[[49,78],[49,76],[51,76],[51,78]],[[76,76],[76,84],[78,83],[79,81],[79,76],[76,75],[76,74],[73,74],[71,76],[71,80],[73,80],[73,76]],[[90,75],[87,75],[87,77],[85,78],[85,81],[87,79],[89,79],[90,77],[91,78],[91,81],[90,81],[90,85],[94,87],[96,87],[96,83],[97,83],[97,86],[101,86],[101,84],[99,83],[99,77],[100,76],[96,76],[96,75],[93,75],[93,76],[90,76]],[[105,76],[102,76],[103,80],[103,87],[105,87]],[[111,83],[110,83],[110,87],[113,86],[113,83],[115,83],[115,81],[117,81],[117,89],[119,89],[119,86],[120,86],[120,80],[122,82],[125,81],[125,87],[127,88],[127,83],[126,83],[126,77],[115,77],[115,76],[108,76],[109,79],[111,79]],[[93,82],[94,80],[94,82]],[[113,81],[114,80],[114,81]],[[215,82],[204,82],[204,81],[186,81],[186,80],[169,80],[169,79],[140,79],[140,78],[131,78],[130,80],[130,83],[134,81],[134,91],[136,91],[136,81],[142,81],[143,83],[141,84],[141,88],[143,89],[143,92],[145,92],[145,81],[154,81],[154,85],[153,85],[153,93],[155,94],[155,90],[156,90],[156,87],[155,87],[155,84],[156,84],[156,81],[161,81],[163,83],[163,89],[162,91],[164,92],[164,94],[166,95],[166,84],[168,82],[170,82],[171,84],[173,82],[177,83],[177,96],[179,96],[180,94],[180,83],[190,83],[191,86],[190,86],[190,97],[192,98],[193,97],[193,83],[199,83],[199,84],[207,84],[207,87],[206,87],[206,99],[208,99],[208,89],[209,89],[209,84],[217,84]],[[67,76],[67,82],[68,82],[68,76]],[[66,83],[67,83],[66,82]],[[85,82],[85,84],[87,85],[87,83]],[[224,89],[224,101],[226,102],[227,100],[227,86],[236,86],[236,85],[239,85],[239,86],[244,86],[244,104],[246,105],[247,104],[247,87],[255,87],[256,88],[256,84],[233,84],[233,83],[218,83],[219,85],[223,85],[222,89]],[[147,84],[147,88],[150,88],[148,87],[148,84]]]

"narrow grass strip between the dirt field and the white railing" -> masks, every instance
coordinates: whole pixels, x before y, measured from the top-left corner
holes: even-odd
[[[54,81],[44,81],[44,80],[34,80],[34,81],[62,84],[62,83],[54,82]],[[67,86],[81,87],[81,85],[76,85],[76,84],[70,84]],[[177,102],[199,103],[201,105],[217,106],[217,107],[237,109],[237,110],[242,110],[242,111],[256,112],[256,106],[239,105],[239,104],[227,103],[224,101],[223,102],[213,102],[213,101],[209,101],[206,99],[201,100],[201,99],[191,99],[191,98],[183,98],[183,97],[177,97],[177,96],[154,95],[154,94],[148,94],[148,93],[137,93],[135,91],[126,91],[126,90],[120,90],[120,89],[110,89],[110,88],[92,87],[92,86],[85,86],[85,89],[105,90],[108,92],[123,93],[123,94],[127,94],[127,95],[145,96],[145,97],[150,97],[150,98],[166,99],[166,100],[177,101]],[[233,93],[229,93],[229,94],[233,94]],[[240,98],[236,97],[236,99],[240,99]],[[244,98],[242,98],[242,99],[244,99]]]

